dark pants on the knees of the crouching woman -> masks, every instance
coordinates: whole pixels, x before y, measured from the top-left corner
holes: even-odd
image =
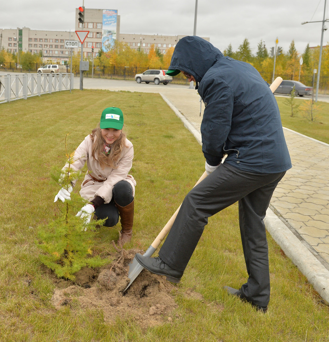
[[[119,222],[119,211],[115,203],[120,207],[126,207],[133,201],[132,186],[127,181],[120,181],[113,187],[112,196],[109,203],[103,203],[95,210],[98,219],[107,218],[104,223],[106,227],[113,227]]]

